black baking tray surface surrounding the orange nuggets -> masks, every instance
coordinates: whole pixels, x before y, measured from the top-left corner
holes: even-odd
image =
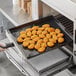
[[[27,29],[29,27],[32,27],[33,25],[42,25],[42,24],[45,24],[45,23],[49,23],[54,28],[60,28],[62,30],[62,32],[64,33],[64,35],[65,35],[64,36],[65,37],[64,43],[56,44],[56,46],[54,48],[58,48],[58,47],[60,47],[62,45],[65,45],[65,44],[67,44],[68,42],[71,41],[71,38],[66,34],[65,29],[60,27],[62,25],[58,21],[56,21],[54,19],[54,17],[52,17],[52,16],[51,17],[46,17],[46,18],[43,18],[43,19],[40,19],[40,20],[37,20],[37,21],[33,21],[33,22],[30,22],[30,23],[27,23],[25,25],[21,25],[21,26],[12,28],[12,29],[9,30],[9,32],[8,31],[7,32],[8,32],[8,34],[10,34],[10,37],[12,36],[11,38],[14,40],[14,42],[17,43],[16,39],[19,36],[20,31],[25,30],[25,29]],[[28,50],[26,48],[24,49],[21,44],[17,43],[17,47],[21,48],[20,51],[23,51],[23,54],[25,54],[25,56],[27,58],[32,58],[34,56],[40,55],[36,50],[30,51],[30,50]],[[52,50],[54,48],[49,48],[48,47],[46,49],[46,51],[50,51],[50,50]]]

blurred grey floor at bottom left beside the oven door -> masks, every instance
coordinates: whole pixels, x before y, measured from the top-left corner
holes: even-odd
[[[0,52],[0,76],[25,76]]]

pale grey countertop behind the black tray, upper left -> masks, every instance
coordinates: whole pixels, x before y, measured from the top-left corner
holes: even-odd
[[[0,12],[15,26],[32,21],[32,18],[20,7],[13,6],[12,0],[0,0]]]

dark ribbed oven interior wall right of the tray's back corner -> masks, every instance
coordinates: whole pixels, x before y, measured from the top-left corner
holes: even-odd
[[[74,26],[73,22],[62,15],[58,15],[58,16],[56,16],[56,18],[57,18],[57,20],[59,20],[59,22],[61,22],[63,24],[63,26],[65,27],[65,30],[69,34],[71,34],[71,36],[73,37],[73,26]]]

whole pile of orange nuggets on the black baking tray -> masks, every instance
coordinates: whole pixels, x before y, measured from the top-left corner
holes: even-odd
[[[42,53],[46,51],[47,46],[54,47],[56,43],[63,43],[64,34],[60,29],[44,24],[42,27],[33,26],[21,31],[17,42],[22,43],[23,47]]]

